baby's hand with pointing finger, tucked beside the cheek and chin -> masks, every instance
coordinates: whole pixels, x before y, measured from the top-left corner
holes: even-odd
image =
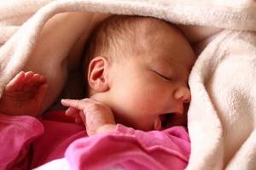
[[[88,135],[113,131],[116,122],[108,105],[95,99],[61,99],[61,104],[70,107],[66,114],[79,122],[81,116]]]

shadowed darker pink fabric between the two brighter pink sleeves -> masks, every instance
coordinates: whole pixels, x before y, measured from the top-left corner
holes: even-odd
[[[32,144],[34,152],[32,167],[64,157],[69,144],[86,136],[84,125],[69,121],[63,111],[49,112],[45,117],[41,119],[44,134]]]

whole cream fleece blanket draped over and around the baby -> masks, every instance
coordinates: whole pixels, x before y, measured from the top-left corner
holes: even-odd
[[[101,13],[168,20],[180,25],[195,47],[187,169],[256,167],[253,0],[0,1],[0,94],[21,70],[44,74],[49,82],[45,111],[76,67],[82,42],[108,17]]]

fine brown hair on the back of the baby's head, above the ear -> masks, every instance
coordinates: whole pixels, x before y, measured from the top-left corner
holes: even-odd
[[[87,60],[84,63],[85,68],[89,65],[90,60],[96,56],[104,56],[112,60],[114,58],[119,59],[131,51],[131,48],[134,47],[131,47],[130,43],[136,42],[134,38],[137,37],[137,29],[141,25],[138,21],[145,20],[145,18],[113,15],[99,23],[85,43],[84,57]]]

